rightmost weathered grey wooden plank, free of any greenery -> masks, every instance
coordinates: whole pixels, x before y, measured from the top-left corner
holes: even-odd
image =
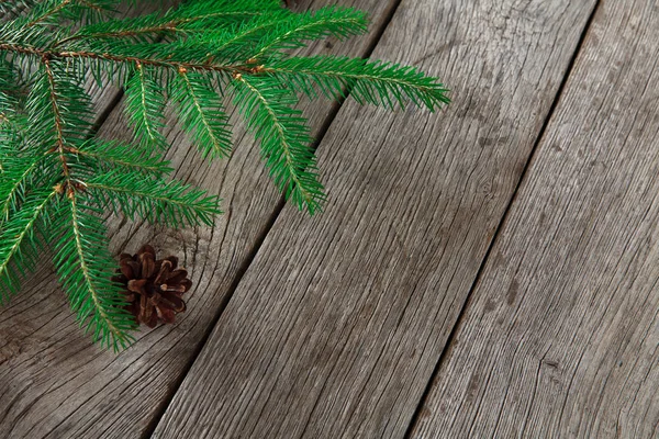
[[[658,59],[603,1],[414,437],[659,436]]]

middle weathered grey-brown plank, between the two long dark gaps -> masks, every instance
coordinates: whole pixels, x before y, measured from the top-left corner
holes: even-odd
[[[375,56],[453,106],[342,108],[325,213],[286,207],[155,437],[403,436],[593,5],[403,1]]]

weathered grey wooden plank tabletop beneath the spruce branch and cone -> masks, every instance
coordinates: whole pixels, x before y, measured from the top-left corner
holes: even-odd
[[[657,1],[338,3],[371,32],[309,53],[416,65],[454,103],[310,105],[313,218],[239,123],[211,167],[171,125],[177,177],[225,215],[112,219],[112,243],[185,256],[188,312],[114,356],[44,266],[0,308],[0,437],[658,437]]]

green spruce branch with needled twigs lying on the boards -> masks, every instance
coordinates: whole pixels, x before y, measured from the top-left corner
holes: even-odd
[[[121,19],[120,3],[0,2],[0,302],[49,248],[80,325],[114,349],[131,342],[135,323],[110,280],[116,264],[103,213],[175,227],[220,214],[216,196],[169,176],[166,105],[209,159],[231,154],[225,105],[235,105],[275,183],[313,214],[325,195],[297,110],[302,97],[431,111],[448,102],[413,67],[291,55],[310,41],[365,33],[365,13],[350,8],[293,13],[278,0],[189,0]],[[132,144],[94,136],[90,77],[125,90]]]

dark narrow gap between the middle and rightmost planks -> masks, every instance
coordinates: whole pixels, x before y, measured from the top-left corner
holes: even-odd
[[[471,302],[472,299],[472,293],[476,290],[479,281],[481,280],[481,275],[483,273],[483,269],[488,262],[488,260],[490,259],[491,252],[492,252],[492,248],[494,247],[494,244],[496,243],[496,239],[499,238],[500,232],[503,228],[507,217],[509,217],[509,213],[511,211],[511,207],[513,206],[513,204],[515,203],[515,201],[517,200],[517,194],[520,192],[520,188],[522,187],[522,184],[524,183],[525,179],[526,179],[526,175],[527,175],[527,170],[529,168],[529,165],[532,164],[534,157],[536,156],[536,151],[538,148],[538,145],[541,143],[543,137],[545,136],[545,132],[547,130],[547,126],[549,125],[549,122],[551,121],[551,117],[554,116],[554,112],[556,110],[556,108],[558,106],[558,103],[560,101],[560,98],[562,95],[563,89],[566,83],[568,82],[568,78],[570,77],[570,75],[572,74],[572,69],[574,67],[574,63],[579,56],[579,53],[581,52],[581,48],[583,46],[583,42],[587,40],[588,37],[588,33],[591,30],[591,24],[593,22],[593,19],[597,12],[597,9],[600,8],[600,4],[602,3],[602,0],[596,0],[595,4],[593,5],[593,9],[588,18],[588,21],[585,23],[585,26],[583,27],[583,31],[581,33],[581,36],[579,38],[579,43],[577,44],[577,47],[574,48],[574,53],[572,54],[572,57],[570,59],[570,63],[568,64],[568,68],[566,70],[566,75],[563,76],[560,86],[558,87],[558,90],[556,92],[556,97],[554,99],[554,102],[551,103],[551,106],[549,109],[549,112],[547,113],[547,116],[545,117],[545,122],[543,123],[543,127],[540,128],[538,136],[533,145],[533,148],[530,150],[530,154],[528,156],[528,159],[526,160],[526,164],[524,166],[524,170],[522,171],[522,175],[520,176],[520,180],[517,181],[517,185],[515,187],[513,194],[511,196],[511,199],[509,200],[509,204],[506,205],[504,213],[501,217],[501,221],[499,222],[499,225],[496,226],[496,229],[494,232],[494,235],[492,236],[492,240],[490,241],[490,245],[488,247],[488,250],[481,261],[481,264],[478,269],[478,272],[476,274],[476,278],[473,279],[473,283],[471,284],[471,288],[469,289],[469,293],[467,294],[467,299],[465,300],[465,303],[462,304],[462,307],[460,308],[460,313],[458,314],[458,318],[456,319],[456,323],[454,324],[454,327],[450,331],[450,334],[448,335],[448,339],[446,341],[446,345],[444,347],[444,349],[442,350],[442,354],[439,356],[439,358],[437,359],[437,363],[435,364],[435,369],[433,370],[433,373],[431,374],[428,382],[426,384],[426,387],[423,392],[422,397],[418,401],[418,404],[416,406],[416,409],[414,412],[414,415],[412,416],[412,419],[410,420],[410,425],[407,426],[407,431],[405,431],[405,439],[410,439],[412,438],[412,434],[414,431],[414,427],[417,424],[418,418],[421,417],[421,414],[423,412],[423,407],[425,406],[425,403],[428,398],[428,395],[431,393],[431,390],[433,387],[433,383],[435,382],[435,379],[437,376],[437,373],[439,371],[439,368],[442,367],[442,363],[444,361],[444,359],[446,358],[446,354],[450,351],[450,349],[453,348],[454,344],[455,344],[455,337],[456,334],[458,333],[458,329],[460,328],[460,325],[462,324],[463,320],[463,316],[465,316],[465,311],[469,307],[469,304]]]

